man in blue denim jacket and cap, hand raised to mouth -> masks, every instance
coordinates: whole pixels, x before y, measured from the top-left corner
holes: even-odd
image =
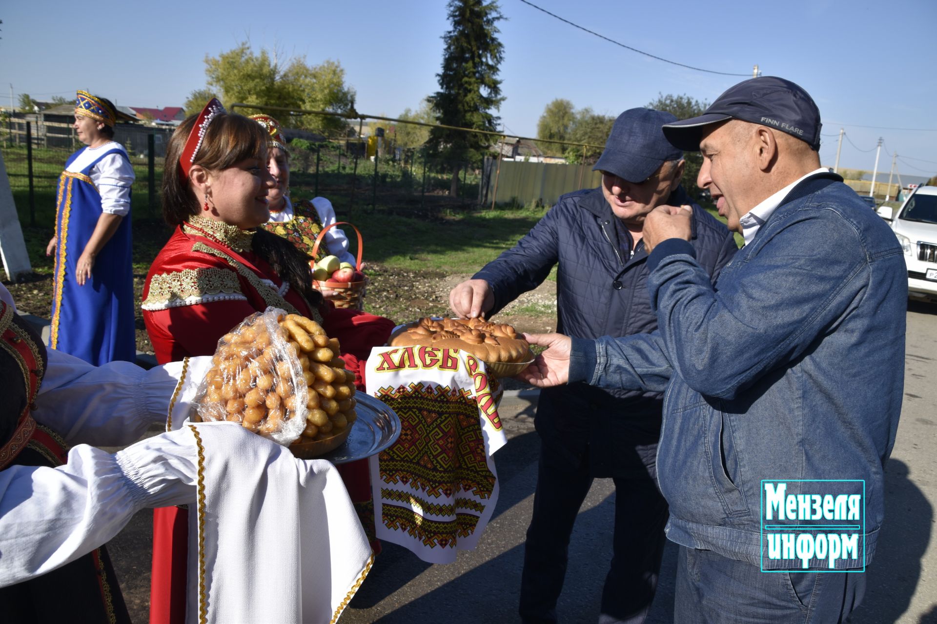
[[[687,242],[690,210],[662,206],[645,224],[658,331],[530,337],[549,347],[523,375],[534,385],[665,391],[657,470],[680,544],[677,622],[836,622],[865,589],[901,410],[906,269],[887,225],[820,168],[820,127],[810,95],[773,77],[665,125],[703,152],[698,183],[745,247],[712,285]],[[821,479],[850,481],[797,481]],[[783,505],[763,512],[777,484],[762,480],[795,495],[783,526],[842,525],[796,495],[863,484],[858,556],[779,559],[762,532]],[[805,569],[854,573],[781,572]]]

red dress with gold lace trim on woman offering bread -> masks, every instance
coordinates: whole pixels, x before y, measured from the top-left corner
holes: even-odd
[[[274,306],[321,320],[342,346],[347,368],[364,391],[364,363],[383,344],[393,322],[350,310],[310,310],[264,260],[251,251],[253,232],[199,215],[176,228],[143,285],[143,321],[160,364],[185,356],[211,356],[217,341],[246,316]],[[324,313],[323,313],[324,312]],[[365,473],[366,477],[366,473]],[[352,501],[359,484],[346,479]],[[370,486],[367,486],[370,493]],[[186,617],[187,512],[154,510],[151,624],[182,624]],[[373,519],[371,520],[373,533]]]

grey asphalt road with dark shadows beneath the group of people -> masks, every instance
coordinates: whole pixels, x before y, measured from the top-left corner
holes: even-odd
[[[885,527],[868,589],[854,624],[937,623],[937,305],[908,309],[905,398],[898,440],[885,474]],[[449,565],[430,565],[385,544],[339,624],[517,621],[517,591],[536,482],[536,397],[506,398],[499,410],[510,442],[495,455],[500,498],[474,551]],[[597,480],[580,511],[558,604],[560,621],[595,622],[611,557],[614,516],[610,480]],[[135,622],[147,621],[149,512],[137,515],[109,545]],[[676,548],[668,543],[648,622],[672,622]],[[627,588],[622,588],[627,590]]]

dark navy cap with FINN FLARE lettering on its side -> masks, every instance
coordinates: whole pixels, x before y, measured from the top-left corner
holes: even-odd
[[[776,76],[739,82],[699,117],[665,123],[663,134],[681,150],[696,152],[704,129],[728,119],[761,123],[805,141],[814,152],[820,150],[820,109],[810,94]]]

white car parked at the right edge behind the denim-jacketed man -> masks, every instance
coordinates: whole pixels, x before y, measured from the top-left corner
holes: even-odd
[[[937,186],[918,186],[898,210],[876,211],[904,249],[908,297],[937,300]]]

